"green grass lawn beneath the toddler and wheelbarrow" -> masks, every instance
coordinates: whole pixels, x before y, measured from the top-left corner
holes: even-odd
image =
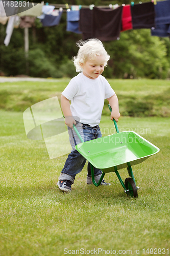
[[[3,86],[21,95],[18,85]],[[22,84],[23,94],[25,90],[31,93],[31,83],[27,86]],[[163,86],[164,91],[169,87]],[[34,90],[36,87],[37,95],[41,94],[42,84],[34,84]],[[51,83],[45,85],[45,90],[47,87],[50,91]],[[48,92],[46,98],[53,92]],[[86,185],[87,164],[77,175],[72,193],[63,194],[56,182],[67,156],[50,160],[43,141],[27,139],[22,112],[1,110],[0,116],[1,256],[93,255],[98,248],[105,250],[99,250],[98,255],[170,253],[170,118],[119,119],[120,131],[133,130],[160,148],[158,154],[133,166],[140,187],[134,199],[127,197],[114,173],[105,175],[111,186]],[[113,131],[108,116],[102,117],[100,126],[103,136]],[[119,173],[123,180],[128,177],[126,169]]]

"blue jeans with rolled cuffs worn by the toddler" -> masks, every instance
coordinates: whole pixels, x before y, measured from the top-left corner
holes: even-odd
[[[96,125],[94,127],[89,127],[88,125],[79,122],[76,124],[76,128],[79,131],[84,141],[89,141],[89,140],[102,137],[99,125]],[[59,180],[70,180],[71,183],[73,184],[76,175],[80,173],[81,170],[83,169],[86,163],[86,159],[77,150],[75,150],[75,145],[81,142],[75,130],[70,129],[70,127],[68,127],[68,133],[69,133],[70,144],[72,146],[72,151],[67,157],[64,168],[61,171]],[[102,175],[101,169],[94,167],[94,176],[99,176],[100,178],[101,175]],[[88,163],[87,176],[91,177],[90,163]]]

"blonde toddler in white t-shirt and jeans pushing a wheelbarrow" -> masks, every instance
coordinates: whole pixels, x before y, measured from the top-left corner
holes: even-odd
[[[72,151],[68,155],[57,185],[66,192],[71,191],[76,175],[81,172],[86,162],[86,159],[75,150],[74,146],[80,141],[72,129],[73,124],[76,125],[84,141],[102,137],[99,123],[106,98],[112,108],[111,120],[114,118],[117,122],[120,117],[117,96],[101,75],[110,58],[102,42],[93,38],[80,41],[77,45],[80,49],[78,55],[74,57],[74,65],[76,71],[81,73],[70,80],[61,95],[61,108],[65,116],[65,124],[68,125]],[[94,168],[94,179],[97,183],[101,175],[102,171]],[[92,184],[89,163],[87,184]],[[110,185],[110,183],[103,180],[101,185]]]

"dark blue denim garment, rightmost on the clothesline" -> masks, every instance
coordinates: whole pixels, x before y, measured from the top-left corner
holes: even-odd
[[[166,37],[170,35],[170,1],[157,2],[155,8],[155,28],[152,36]]]

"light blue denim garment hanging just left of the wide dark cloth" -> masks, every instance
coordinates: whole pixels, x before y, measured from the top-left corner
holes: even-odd
[[[66,31],[81,34],[79,30],[80,11],[67,11],[67,28]]]

